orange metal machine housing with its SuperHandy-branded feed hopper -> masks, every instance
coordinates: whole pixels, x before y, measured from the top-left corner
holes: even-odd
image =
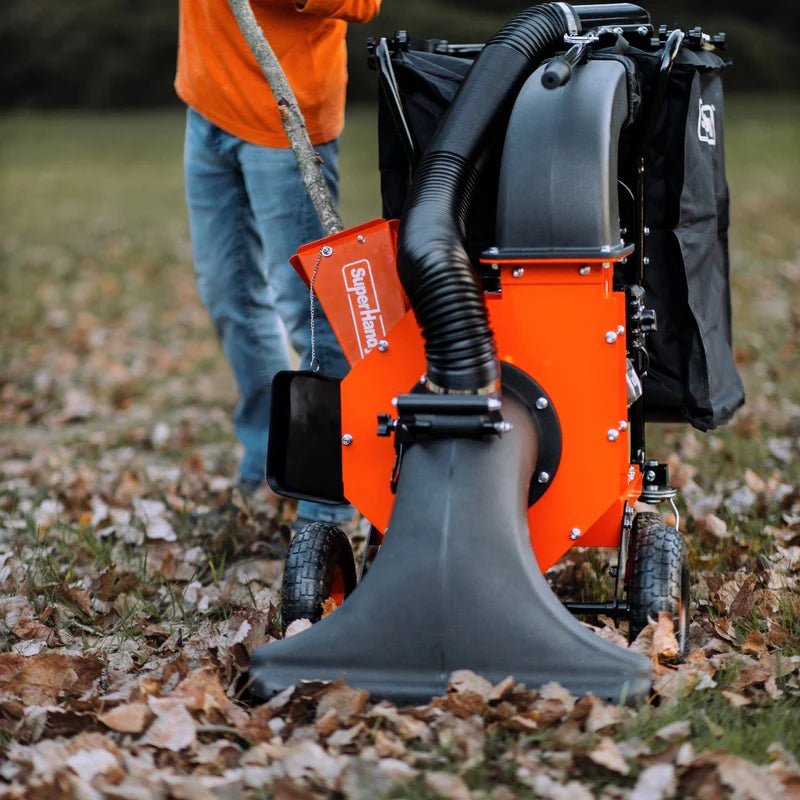
[[[320,249],[332,248],[315,290],[353,365],[341,385],[342,435],[349,442],[342,447],[345,496],[381,532],[394,500],[395,450],[391,437],[378,436],[377,415],[393,411],[393,398],[410,391],[426,365],[396,275],[395,230],[376,220],[298,254],[308,276]],[[369,267],[377,287],[380,346],[365,348],[359,340],[352,287],[341,277],[356,261]],[[641,493],[641,473],[629,452],[625,295],[613,290],[610,260],[487,263],[502,287],[486,295],[498,356],[542,387],[561,428],[556,474],[528,510],[531,544],[544,571],[575,545],[619,546],[625,506]]]

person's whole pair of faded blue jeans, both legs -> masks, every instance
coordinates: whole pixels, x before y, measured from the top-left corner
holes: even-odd
[[[338,140],[316,150],[336,200]],[[192,108],[184,176],[198,294],[239,388],[234,415],[244,446],[239,474],[260,481],[266,472],[272,377],[290,368],[289,345],[302,369],[310,364],[309,292],[289,257],[324,231],[290,149],[245,142]],[[320,372],[344,377],[347,360],[319,305],[314,318]],[[298,515],[346,522],[353,509],[301,500]]]

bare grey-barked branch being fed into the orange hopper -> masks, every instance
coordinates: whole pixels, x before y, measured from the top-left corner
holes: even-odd
[[[344,229],[342,219],[322,174],[319,154],[308,137],[303,112],[280,62],[253,14],[249,0],[228,0],[228,5],[278,104],[283,129],[322,227],[328,236],[339,233]]]

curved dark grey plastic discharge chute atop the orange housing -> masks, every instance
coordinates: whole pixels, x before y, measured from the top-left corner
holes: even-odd
[[[631,248],[620,242],[617,199],[619,134],[628,117],[625,68],[589,61],[558,89],[542,86],[545,68],[522,87],[506,131],[499,257],[625,255]]]

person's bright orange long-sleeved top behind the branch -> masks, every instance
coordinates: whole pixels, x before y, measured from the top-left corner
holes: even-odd
[[[313,144],[334,139],[344,125],[347,23],[367,22],[380,4],[381,0],[251,0]],[[175,90],[206,119],[240,139],[289,146],[275,98],[227,0],[180,0]]]

